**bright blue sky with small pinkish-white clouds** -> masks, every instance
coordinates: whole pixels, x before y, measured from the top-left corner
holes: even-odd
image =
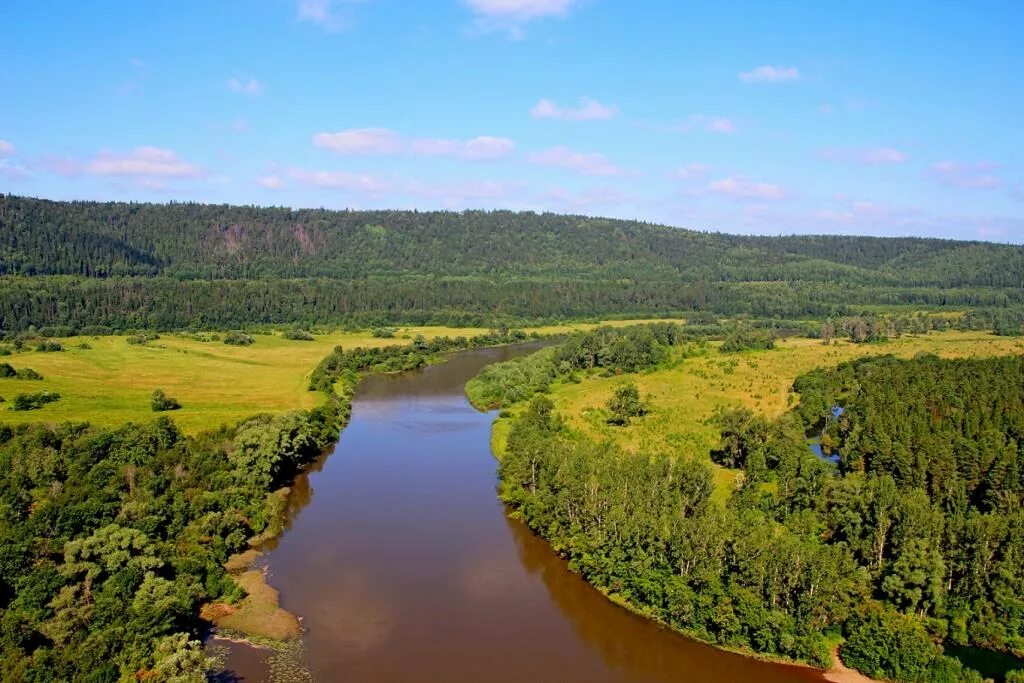
[[[0,191],[1024,243],[1024,2],[0,3]]]

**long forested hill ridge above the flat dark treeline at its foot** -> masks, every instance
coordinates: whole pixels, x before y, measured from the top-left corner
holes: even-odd
[[[1017,288],[1024,284],[1024,249],[923,239],[740,237],[508,211],[291,210],[0,196],[0,274]]]

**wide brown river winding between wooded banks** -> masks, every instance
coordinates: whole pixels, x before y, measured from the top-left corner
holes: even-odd
[[[524,347],[369,377],[334,451],[293,487],[262,558],[302,617],[317,681],[822,681],[714,649],[608,601],[496,496],[489,435],[463,385]],[[260,681],[232,646],[225,678]]]

